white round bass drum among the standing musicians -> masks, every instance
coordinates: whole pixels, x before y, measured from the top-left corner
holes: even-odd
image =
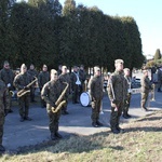
[[[90,94],[89,94],[87,92],[83,92],[83,93],[80,95],[80,103],[81,103],[81,105],[84,106],[84,107],[91,105],[91,97],[90,97]]]

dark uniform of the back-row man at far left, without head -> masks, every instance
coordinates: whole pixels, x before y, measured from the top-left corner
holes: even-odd
[[[11,69],[1,69],[0,71],[0,79],[5,83],[5,85],[8,86],[8,91],[14,91],[14,86],[13,86],[13,80],[14,80],[14,72]],[[11,110],[11,106],[12,106],[12,96],[10,95],[10,111]]]

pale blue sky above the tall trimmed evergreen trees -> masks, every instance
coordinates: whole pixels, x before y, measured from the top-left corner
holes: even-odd
[[[59,0],[64,5],[65,0]],[[144,55],[162,53],[162,0],[76,0],[77,4],[97,6],[104,14],[132,16],[138,26]]]

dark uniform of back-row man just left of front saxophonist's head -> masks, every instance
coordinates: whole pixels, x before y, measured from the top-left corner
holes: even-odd
[[[40,92],[42,91],[43,85],[49,82],[50,80],[50,75],[49,71],[41,71],[38,76],[38,85],[40,89]],[[44,99],[41,98],[41,107],[46,107],[46,103],[44,102]]]

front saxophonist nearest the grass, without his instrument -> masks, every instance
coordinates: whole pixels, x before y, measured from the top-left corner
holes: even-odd
[[[53,112],[52,108],[56,108],[56,100],[62,94],[62,82],[58,80],[58,73],[55,69],[51,70],[51,80],[44,84],[41,91],[41,97],[46,102],[46,111],[50,119],[49,129],[51,132],[51,139],[55,140],[63,136],[58,133],[58,121],[60,117],[60,109],[57,112]]]

